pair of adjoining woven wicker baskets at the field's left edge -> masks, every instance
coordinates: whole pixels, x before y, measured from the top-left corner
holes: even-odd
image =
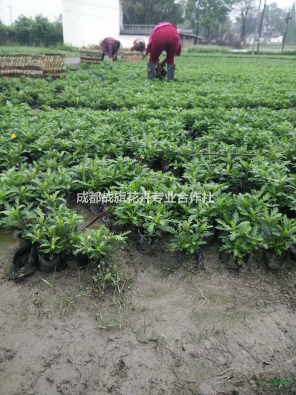
[[[6,79],[66,75],[66,53],[0,55],[0,76]]]

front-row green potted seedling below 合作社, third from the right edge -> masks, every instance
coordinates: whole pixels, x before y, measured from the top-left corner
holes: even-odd
[[[207,223],[207,218],[198,219],[195,215],[190,215],[187,221],[178,224],[177,229],[172,229],[175,241],[170,244],[172,251],[177,251],[178,262],[183,263],[184,252],[195,254],[198,267],[202,264],[203,254],[200,246],[206,244],[204,238],[210,236],[211,228]]]

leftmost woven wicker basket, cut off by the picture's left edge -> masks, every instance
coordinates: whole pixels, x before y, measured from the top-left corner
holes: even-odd
[[[30,54],[0,55],[0,76],[10,79],[13,77],[42,78],[42,57]]]

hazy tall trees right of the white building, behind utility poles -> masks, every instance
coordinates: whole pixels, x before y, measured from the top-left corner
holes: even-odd
[[[258,6],[257,0],[123,0],[123,18],[124,24],[170,21],[182,28],[193,28],[194,34],[203,36],[206,42],[219,40],[225,32],[236,33],[244,41],[255,32]],[[266,5],[262,31],[283,34],[286,17],[287,10],[279,8],[277,3]],[[295,4],[290,17],[287,43],[296,42]]]

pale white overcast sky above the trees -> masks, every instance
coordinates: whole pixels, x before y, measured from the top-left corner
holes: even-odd
[[[273,0],[267,0],[266,4],[273,2]],[[259,0],[256,0],[256,4],[259,6]],[[263,4],[264,0],[262,0],[262,8]],[[280,8],[290,8],[292,4],[293,0],[277,1],[277,5]],[[26,17],[43,14],[53,21],[54,17],[60,13],[62,13],[62,0],[0,0],[0,19],[5,24],[10,24],[11,19],[15,21],[21,14]]]

